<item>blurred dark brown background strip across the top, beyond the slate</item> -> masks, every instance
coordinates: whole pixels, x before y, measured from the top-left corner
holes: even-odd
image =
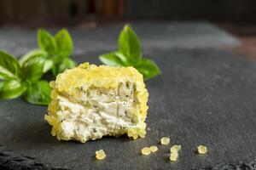
[[[254,0],[1,0],[0,25],[80,25],[111,20],[210,20],[253,24]]]

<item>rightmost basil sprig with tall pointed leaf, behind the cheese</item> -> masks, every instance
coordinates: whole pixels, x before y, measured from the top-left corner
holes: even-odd
[[[119,34],[119,49],[102,54],[99,59],[105,65],[133,66],[143,74],[144,80],[160,74],[160,69],[154,61],[143,57],[139,39],[129,25],[125,25]]]

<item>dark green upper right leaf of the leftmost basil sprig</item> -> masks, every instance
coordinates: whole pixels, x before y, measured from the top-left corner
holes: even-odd
[[[44,57],[35,56],[27,59],[22,65],[24,80],[28,82],[37,82],[43,75]]]

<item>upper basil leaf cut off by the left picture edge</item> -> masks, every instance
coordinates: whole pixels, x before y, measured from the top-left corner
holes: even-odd
[[[19,79],[20,64],[11,54],[0,50],[0,79]]]

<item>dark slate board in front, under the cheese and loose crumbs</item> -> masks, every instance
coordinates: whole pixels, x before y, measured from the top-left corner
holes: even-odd
[[[98,54],[102,51],[85,56]],[[50,135],[50,127],[44,122],[46,107],[29,105],[22,99],[1,101],[0,150],[14,150],[7,156],[0,154],[2,163],[7,162],[2,165],[18,162],[18,167],[41,169],[199,169],[224,163],[215,169],[255,169],[256,63],[212,48],[151,48],[145,55],[162,71],[147,82],[150,96],[145,139],[106,137],[85,144],[61,142]],[[95,57],[74,59],[99,63]],[[162,136],[169,136],[171,144],[182,144],[177,162],[168,161],[170,145],[159,144]],[[157,144],[159,151],[141,156],[140,150],[152,144]],[[195,153],[199,144],[207,145],[206,156]],[[95,160],[95,151],[100,149],[108,155],[104,161]]]

